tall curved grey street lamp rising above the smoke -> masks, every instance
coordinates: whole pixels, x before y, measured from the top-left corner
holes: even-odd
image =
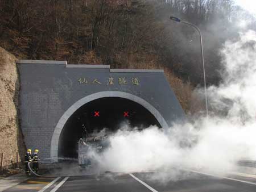
[[[185,21],[183,21],[183,20],[181,20],[181,19],[179,19],[179,18],[176,18],[175,16],[171,16],[170,19],[171,19],[171,20],[174,20],[175,22],[180,22],[180,23],[188,24],[189,26],[192,26],[192,27],[196,28],[196,30],[199,32],[199,35],[200,35],[200,42],[201,42],[201,59],[202,59],[203,71],[204,71],[205,109],[206,109],[207,118],[208,118],[207,86],[206,86],[206,80],[205,80],[204,51],[203,51],[203,39],[202,39],[201,31],[200,31],[199,28],[198,28],[197,26],[195,26],[194,24],[185,22]]]

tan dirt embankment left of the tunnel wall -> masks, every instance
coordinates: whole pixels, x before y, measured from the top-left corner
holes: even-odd
[[[18,120],[19,78],[16,57],[0,47],[0,162],[3,168],[16,166],[24,155],[24,144]],[[1,166],[1,165],[0,165]]]

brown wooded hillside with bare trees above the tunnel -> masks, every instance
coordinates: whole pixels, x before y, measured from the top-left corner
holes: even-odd
[[[200,28],[208,85],[220,82],[219,50],[245,30],[241,20],[256,29],[254,16],[233,0],[2,0],[0,47],[18,59],[112,68],[158,64],[183,82],[203,85],[199,34],[171,15]]]

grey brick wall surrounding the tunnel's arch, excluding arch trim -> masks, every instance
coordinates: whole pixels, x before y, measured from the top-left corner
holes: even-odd
[[[134,95],[159,112],[168,126],[185,118],[163,70],[109,69],[109,65],[67,65],[66,61],[20,60],[17,64],[24,140],[28,148],[38,148],[42,158],[51,157],[53,132],[61,116],[74,103],[98,92]],[[109,78],[114,78],[114,85],[108,85]],[[119,78],[127,84],[119,84]],[[132,83],[133,78],[138,78],[139,85]]]

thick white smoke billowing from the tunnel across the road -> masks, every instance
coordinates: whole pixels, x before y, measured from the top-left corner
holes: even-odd
[[[167,133],[158,127],[122,128],[110,136],[105,152],[90,156],[112,172],[175,167],[228,173],[238,160],[256,160],[255,51],[254,31],[224,44],[223,81],[208,88],[212,108],[208,119],[202,116],[193,123],[175,124]]]

